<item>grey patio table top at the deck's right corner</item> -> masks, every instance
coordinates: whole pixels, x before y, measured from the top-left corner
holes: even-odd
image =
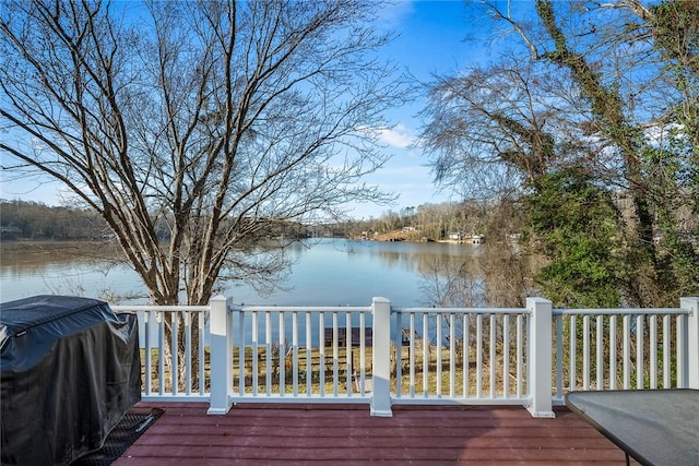
[[[642,465],[699,465],[699,390],[570,392],[566,405]]]

